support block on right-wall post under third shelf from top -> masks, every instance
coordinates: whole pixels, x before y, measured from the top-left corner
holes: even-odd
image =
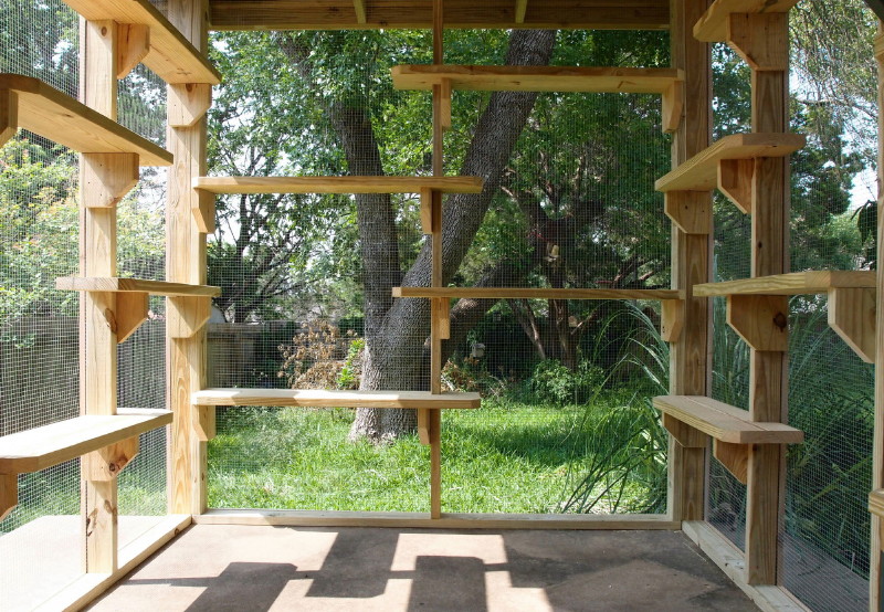
[[[751,348],[785,351],[789,348],[789,300],[781,295],[730,295],[727,324]]]

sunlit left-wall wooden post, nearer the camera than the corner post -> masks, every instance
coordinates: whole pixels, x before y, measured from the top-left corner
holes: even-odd
[[[81,21],[82,101],[95,110],[117,116],[117,27],[113,21]],[[80,271],[84,276],[116,276],[117,213],[105,207],[113,181],[109,155],[84,154],[81,159]],[[112,168],[102,172],[102,168]],[[80,412],[116,414],[116,295],[84,293],[80,303]],[[81,461],[84,570],[109,573],[117,569],[117,481],[96,478],[103,457],[90,453]]]

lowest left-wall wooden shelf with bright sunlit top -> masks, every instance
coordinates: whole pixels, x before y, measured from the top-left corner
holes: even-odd
[[[86,415],[0,437],[0,474],[25,474],[168,425],[168,410],[122,408],[115,415]]]

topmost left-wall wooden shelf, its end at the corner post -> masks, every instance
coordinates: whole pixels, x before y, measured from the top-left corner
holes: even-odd
[[[169,23],[148,0],[64,0],[88,21],[147,25],[150,51],[143,63],[166,83],[221,83],[220,73],[206,56]]]

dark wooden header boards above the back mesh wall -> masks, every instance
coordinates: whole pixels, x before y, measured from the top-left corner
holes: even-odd
[[[432,2],[369,2],[366,23],[352,0],[213,0],[213,30],[390,30],[433,25]],[[665,30],[666,0],[544,0],[528,2],[516,21],[516,0],[445,0],[446,29]]]

